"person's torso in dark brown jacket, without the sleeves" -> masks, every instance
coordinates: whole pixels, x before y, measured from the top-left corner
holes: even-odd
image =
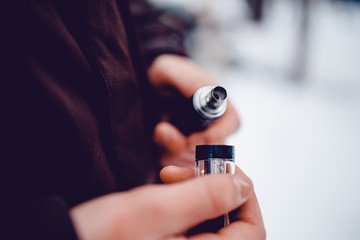
[[[18,185],[76,204],[151,181],[127,3],[27,2],[12,85]]]

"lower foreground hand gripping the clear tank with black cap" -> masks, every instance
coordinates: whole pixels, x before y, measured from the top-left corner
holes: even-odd
[[[173,180],[186,176],[184,169],[178,170],[168,168],[162,175],[171,175]],[[218,233],[190,238],[182,234],[241,204],[242,220]],[[83,240],[265,239],[256,197],[244,175],[209,175],[171,185],[138,187],[85,202],[71,209],[70,216]]]

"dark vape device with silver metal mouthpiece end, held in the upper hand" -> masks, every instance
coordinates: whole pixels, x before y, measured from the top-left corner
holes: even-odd
[[[170,122],[185,135],[204,130],[227,109],[227,92],[221,86],[204,86],[191,99],[172,104]]]

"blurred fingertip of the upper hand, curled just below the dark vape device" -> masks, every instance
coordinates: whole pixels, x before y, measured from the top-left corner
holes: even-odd
[[[168,122],[160,122],[155,126],[154,141],[171,153],[184,151],[188,147],[184,134]]]

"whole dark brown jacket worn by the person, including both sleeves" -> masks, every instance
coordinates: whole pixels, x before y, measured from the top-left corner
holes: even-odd
[[[1,44],[4,216],[13,237],[70,239],[69,207],[156,179],[146,65],[183,54],[168,41],[181,34],[123,0],[14,2]]]

